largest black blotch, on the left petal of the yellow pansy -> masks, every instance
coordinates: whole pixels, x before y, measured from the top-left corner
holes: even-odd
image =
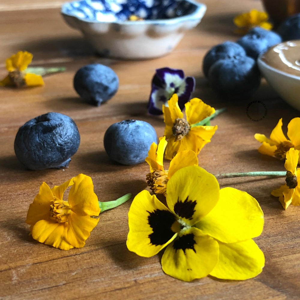
[[[171,230],[171,226],[175,221],[176,216],[170,211],[156,209],[149,212],[148,224],[153,230],[153,233],[149,234],[151,244],[163,245],[169,241],[175,234]]]

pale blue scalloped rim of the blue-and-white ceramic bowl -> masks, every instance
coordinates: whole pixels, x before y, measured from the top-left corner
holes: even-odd
[[[184,20],[193,20],[193,19],[199,19],[202,18],[206,12],[206,5],[204,3],[200,3],[200,2],[195,2],[193,0],[182,0],[182,1],[186,1],[189,2],[191,4],[194,4],[196,6],[196,9],[192,12],[189,13],[187,15],[184,16],[176,16],[174,18],[169,18],[169,19],[152,19],[152,20],[139,20],[139,21],[130,21],[130,20],[125,20],[125,21],[97,21],[97,20],[85,20],[82,18],[79,18],[77,16],[74,16],[72,14],[69,13],[65,13],[64,7],[67,4],[70,4],[72,2],[77,2],[77,1],[70,1],[70,2],[65,2],[62,6],[61,6],[61,14],[64,16],[69,16],[69,17],[73,17],[79,21],[82,22],[86,22],[86,23],[91,23],[91,24],[119,24],[119,25],[126,25],[126,26],[134,26],[134,25],[144,25],[144,24],[176,24],[179,22],[182,22]]]

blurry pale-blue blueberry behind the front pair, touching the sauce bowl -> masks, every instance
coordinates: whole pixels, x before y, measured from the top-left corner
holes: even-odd
[[[256,59],[259,54],[266,52],[271,46],[281,43],[281,37],[276,32],[260,27],[251,29],[237,43],[246,51],[247,56]]]

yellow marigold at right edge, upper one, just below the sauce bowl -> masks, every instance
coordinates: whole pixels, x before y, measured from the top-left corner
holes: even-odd
[[[268,139],[264,134],[255,134],[254,138],[262,145],[258,148],[258,152],[274,156],[279,159],[285,159],[286,152],[290,148],[300,149],[300,118],[292,119],[287,125],[287,136],[285,137],[282,131],[282,118],[278,121],[276,127],[272,130]],[[300,161],[299,161],[300,163]]]

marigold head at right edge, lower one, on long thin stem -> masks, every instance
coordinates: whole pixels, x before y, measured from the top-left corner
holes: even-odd
[[[294,148],[286,152],[284,167],[286,168],[286,184],[276,190],[272,190],[271,195],[279,197],[283,208],[286,209],[290,204],[300,205],[300,186],[297,178],[300,178],[300,168],[297,169],[299,151]]]

